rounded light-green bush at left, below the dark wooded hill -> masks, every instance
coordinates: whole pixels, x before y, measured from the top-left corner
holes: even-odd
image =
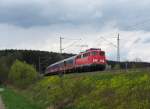
[[[11,66],[8,77],[14,85],[25,88],[37,78],[37,72],[32,65],[16,60]]]

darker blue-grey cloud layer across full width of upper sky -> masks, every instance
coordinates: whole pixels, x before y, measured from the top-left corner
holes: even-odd
[[[22,27],[90,24],[101,29],[107,22],[116,22],[120,29],[131,30],[132,24],[148,20],[149,3],[148,0],[2,0],[0,22]]]

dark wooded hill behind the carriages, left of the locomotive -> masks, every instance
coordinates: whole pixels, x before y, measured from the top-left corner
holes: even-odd
[[[10,63],[18,59],[28,64],[32,64],[37,69],[37,71],[41,73],[44,72],[46,67],[50,64],[71,56],[73,56],[73,54],[59,54],[56,52],[39,50],[0,50],[0,58],[6,58],[7,61],[10,61]]]

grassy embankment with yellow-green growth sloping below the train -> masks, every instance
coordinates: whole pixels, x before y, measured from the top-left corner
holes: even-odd
[[[22,98],[16,98],[16,95],[6,92],[3,97],[8,104],[22,101]],[[133,70],[70,74],[63,78],[51,76],[18,92],[23,94],[27,101],[43,106],[43,109],[150,109],[150,72]],[[10,103],[11,96],[18,100]],[[18,109],[38,108],[31,106]]]

